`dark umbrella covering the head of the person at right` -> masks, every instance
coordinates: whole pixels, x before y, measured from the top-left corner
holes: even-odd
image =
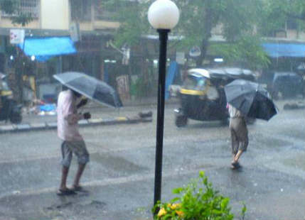
[[[225,86],[227,101],[245,116],[269,120],[277,114],[277,108],[266,89],[245,79],[235,79]]]

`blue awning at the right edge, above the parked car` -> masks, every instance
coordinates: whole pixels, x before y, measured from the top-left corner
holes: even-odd
[[[263,43],[270,57],[305,57],[304,43]]]

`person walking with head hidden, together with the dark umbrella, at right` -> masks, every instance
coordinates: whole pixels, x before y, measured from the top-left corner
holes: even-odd
[[[248,131],[245,116],[252,119],[268,121],[277,108],[266,89],[261,85],[245,79],[235,79],[225,86],[225,97],[230,114],[230,131],[232,138],[232,168],[239,167],[238,160],[248,145]]]

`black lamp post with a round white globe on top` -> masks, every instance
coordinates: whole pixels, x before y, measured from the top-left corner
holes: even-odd
[[[176,26],[179,19],[179,10],[170,0],[156,0],[149,7],[148,19],[151,26],[157,29],[160,40],[159,51],[159,82],[158,82],[158,109],[156,123],[156,165],[154,180],[154,205],[161,200],[162,179],[162,151],[164,134],[164,95],[166,75],[166,46],[168,32]]]

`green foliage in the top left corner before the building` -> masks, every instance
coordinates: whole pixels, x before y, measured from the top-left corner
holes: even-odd
[[[11,16],[11,21],[14,24],[21,24],[21,26],[26,26],[33,20],[31,13],[25,13],[19,10],[21,5],[21,0],[1,0],[0,10]]]

